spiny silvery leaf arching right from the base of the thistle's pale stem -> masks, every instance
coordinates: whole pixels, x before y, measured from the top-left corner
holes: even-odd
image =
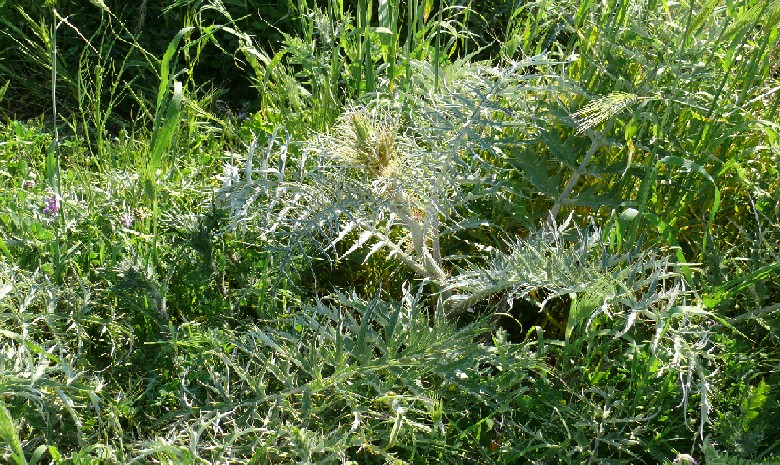
[[[566,239],[571,232],[576,233],[574,240]],[[659,282],[661,276],[676,277],[667,272],[668,260],[614,256],[603,245],[601,231],[595,227],[567,231],[545,225],[525,239],[508,239],[506,251],[493,253],[486,263],[472,264],[448,281],[447,289],[453,296],[447,305],[453,312],[461,312],[492,295],[524,298],[544,289],[550,296],[545,302],[581,293],[589,301],[608,299],[637,312],[657,299],[645,295],[637,301],[635,289],[654,288],[652,283]],[[641,285],[648,277],[650,284]]]

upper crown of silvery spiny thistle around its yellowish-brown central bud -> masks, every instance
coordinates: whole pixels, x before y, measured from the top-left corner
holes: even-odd
[[[481,224],[471,216],[470,203],[499,188],[487,174],[486,134],[514,124],[497,100],[527,109],[522,96],[536,92],[525,79],[494,76],[509,77],[532,64],[548,63],[535,58],[509,70],[445,74],[453,88],[420,96],[419,103],[410,94],[406,104],[378,99],[355,106],[330,133],[303,146],[295,168],[288,142],[272,138],[259,163],[253,143],[243,170],[227,169],[232,174],[217,192],[218,203],[230,209],[234,228],[254,229],[281,250],[308,253],[313,246],[330,260],[363,247],[366,260],[386,250],[419,278],[443,284],[455,257],[442,250],[442,236]],[[472,81],[461,83],[461,77]],[[423,80],[419,88],[431,88],[425,80],[436,78],[425,71],[417,78]],[[476,95],[459,95],[460,89]],[[490,145],[509,145],[514,137]],[[345,241],[346,251],[338,253]]]

